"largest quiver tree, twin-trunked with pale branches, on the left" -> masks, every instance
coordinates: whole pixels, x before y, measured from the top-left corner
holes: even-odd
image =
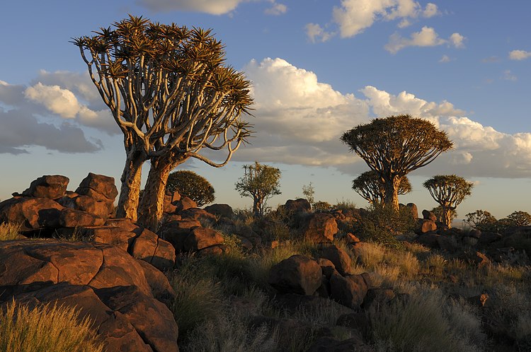
[[[224,62],[210,30],[130,16],[74,40],[89,76],[124,134],[117,216],[136,218],[140,170],[151,161],[139,223],[156,230],[169,172],[188,158],[221,167],[249,136],[242,114],[250,82]],[[202,148],[227,150],[216,163]]]

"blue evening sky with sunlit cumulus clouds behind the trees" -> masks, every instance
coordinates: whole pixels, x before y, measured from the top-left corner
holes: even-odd
[[[413,192],[401,203],[432,209],[422,183],[455,174],[474,182],[459,218],[476,209],[531,213],[530,1],[21,0],[1,8],[0,199],[42,175],[65,175],[74,190],[96,172],[119,187],[122,135],[70,41],[132,14],[212,28],[227,64],[252,82],[251,145],[224,168],[179,166],[206,177],[217,203],[252,205],[234,183],[258,160],[282,171],[270,206],[312,182],[316,200],[365,207],[350,184],[368,167],[339,137],[407,113],[447,131],[455,148],[409,174]]]

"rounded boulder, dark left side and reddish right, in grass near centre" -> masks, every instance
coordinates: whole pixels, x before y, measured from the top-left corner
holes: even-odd
[[[304,255],[295,254],[271,268],[268,283],[281,293],[313,295],[321,286],[321,266]]]

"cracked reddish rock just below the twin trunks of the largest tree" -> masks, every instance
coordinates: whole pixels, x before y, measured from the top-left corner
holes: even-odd
[[[147,228],[135,237],[128,251],[134,258],[142,259],[161,271],[171,269],[175,264],[176,254],[171,243]]]

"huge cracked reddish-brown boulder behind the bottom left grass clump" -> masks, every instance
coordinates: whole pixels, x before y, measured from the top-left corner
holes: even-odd
[[[93,320],[105,351],[178,351],[175,319],[154,298],[143,265],[98,243],[0,242],[0,309],[13,299],[76,307]]]

